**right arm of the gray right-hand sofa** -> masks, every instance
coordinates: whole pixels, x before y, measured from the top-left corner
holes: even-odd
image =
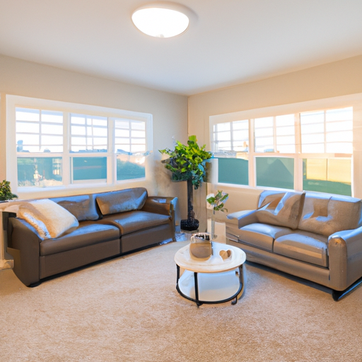
[[[342,291],[362,276],[362,227],[330,235],[328,253],[331,286]]]

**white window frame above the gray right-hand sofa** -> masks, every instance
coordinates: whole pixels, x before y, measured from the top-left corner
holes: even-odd
[[[315,110],[338,109],[343,107],[353,107],[354,110],[354,153],[352,155],[339,153],[301,153],[300,142],[296,143],[296,153],[259,153],[255,152],[254,145],[254,119],[262,117],[275,117],[279,115],[295,115],[296,139],[300,140],[300,112],[313,112]],[[294,187],[296,190],[303,190],[303,158],[350,158],[352,168],[351,192],[354,197],[362,197],[362,175],[354,173],[353,170],[358,170],[358,163],[362,162],[362,93],[354,95],[344,95],[335,98],[325,98],[321,100],[312,100],[302,103],[293,103],[289,105],[279,105],[274,107],[264,107],[255,110],[245,110],[233,112],[223,115],[213,115],[209,117],[209,139],[212,145],[214,124],[234,122],[240,119],[250,119],[249,127],[249,185],[233,185],[219,183],[217,179],[218,170],[217,162],[214,164],[213,175],[211,182],[220,187],[235,187],[235,188],[253,188],[253,189],[274,189],[272,187],[263,187],[256,185],[256,157],[289,157],[294,158]]]

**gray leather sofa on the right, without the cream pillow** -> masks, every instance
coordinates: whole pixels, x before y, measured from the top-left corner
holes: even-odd
[[[361,199],[264,191],[257,209],[229,214],[231,245],[247,260],[332,288],[334,300],[361,283]]]

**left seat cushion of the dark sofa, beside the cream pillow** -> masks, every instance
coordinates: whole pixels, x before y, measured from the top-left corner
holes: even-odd
[[[57,239],[43,240],[40,243],[40,255],[57,254],[119,238],[119,229],[115,226],[83,221],[72,233]]]

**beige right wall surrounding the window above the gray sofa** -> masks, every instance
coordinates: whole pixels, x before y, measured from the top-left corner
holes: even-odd
[[[192,95],[189,97],[189,134],[196,134],[200,143],[209,143],[209,117],[230,112],[253,110],[276,105],[288,105],[309,100],[332,98],[362,92],[362,56],[340,62],[315,66],[263,81]],[[354,182],[360,182],[362,148],[354,150]],[[358,161],[357,159],[361,160]],[[362,188],[362,187],[361,187]],[[214,191],[214,185],[209,185]],[[230,187],[229,212],[255,206],[260,190]],[[245,194],[241,197],[240,194]],[[250,197],[253,195],[254,197]],[[361,192],[356,194],[362,197]],[[238,202],[235,202],[235,199]],[[240,200],[243,200],[241,203]]]

